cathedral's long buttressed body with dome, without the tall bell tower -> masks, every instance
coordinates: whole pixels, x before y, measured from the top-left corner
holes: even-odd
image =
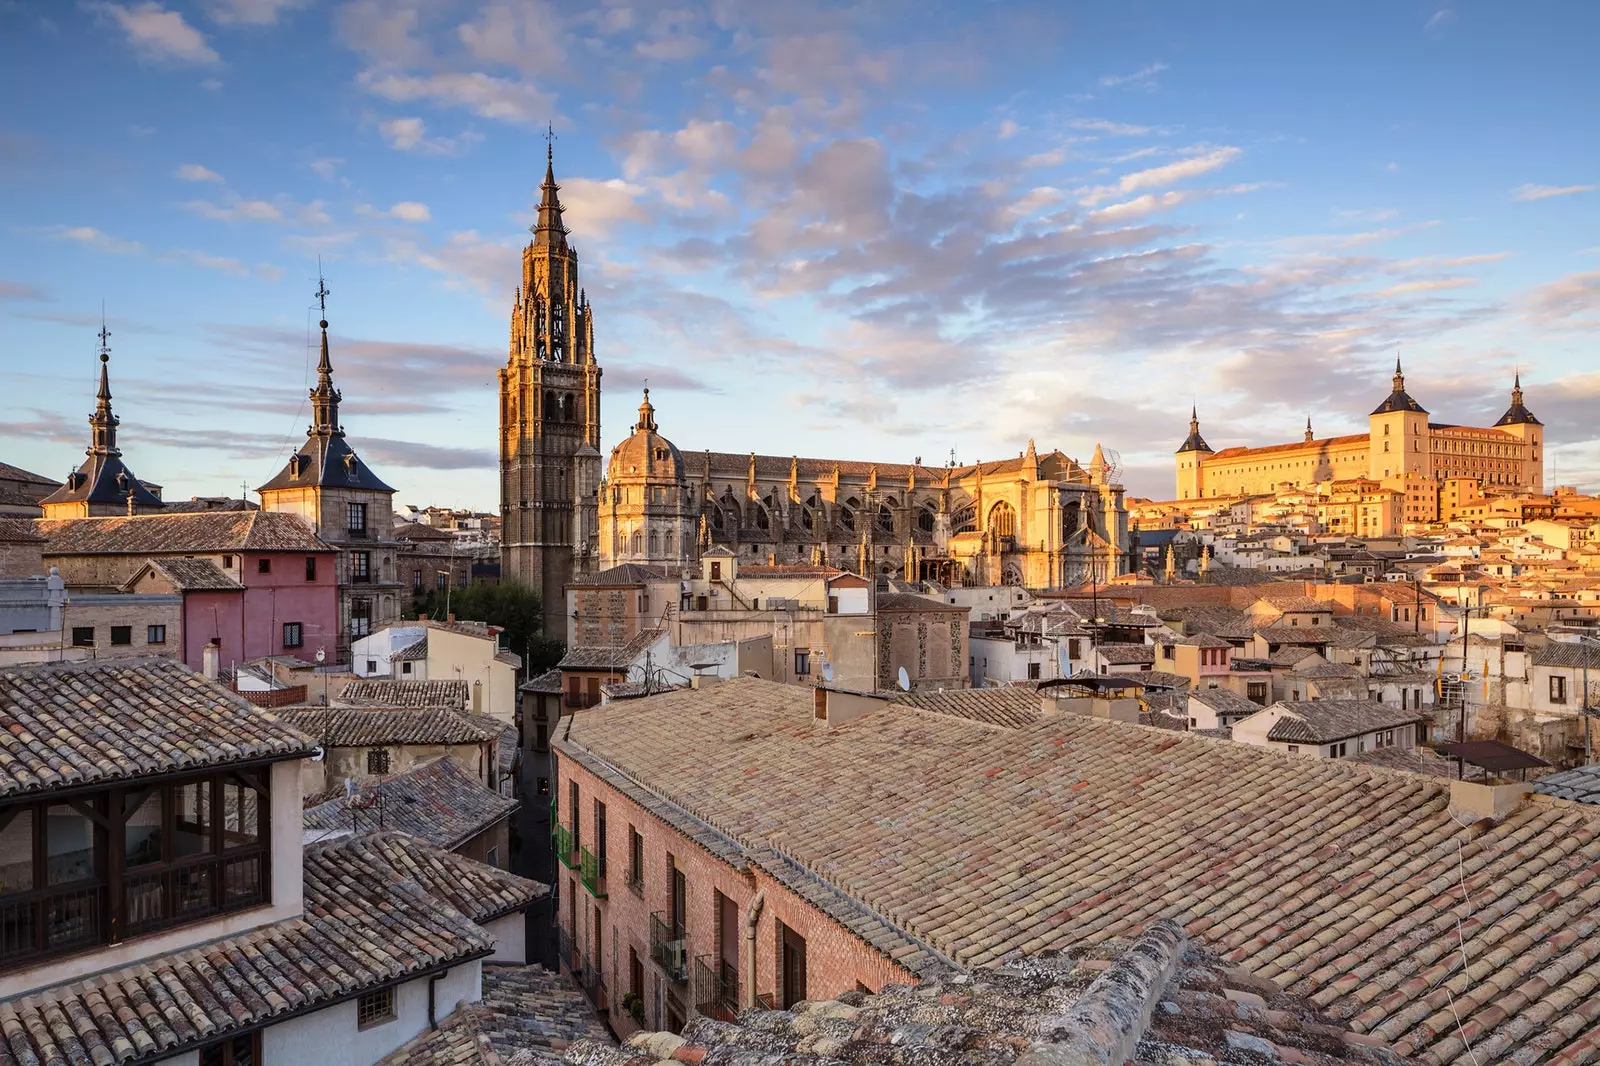
[[[600,565],[685,570],[712,544],[946,586],[1056,587],[1131,563],[1123,488],[1034,442],[1014,459],[930,467],[704,451],[658,432],[646,392],[600,485]]]

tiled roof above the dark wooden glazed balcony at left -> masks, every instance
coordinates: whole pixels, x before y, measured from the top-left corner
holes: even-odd
[[[310,749],[173,659],[0,669],[0,797]]]

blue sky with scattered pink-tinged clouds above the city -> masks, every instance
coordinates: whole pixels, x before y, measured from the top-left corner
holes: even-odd
[[[1520,370],[1600,490],[1600,5],[0,0],[0,461],[238,496],[304,439],[494,511],[546,131],[603,367],[683,451],[1213,448]]]

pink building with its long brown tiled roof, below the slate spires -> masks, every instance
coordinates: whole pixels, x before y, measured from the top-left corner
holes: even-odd
[[[293,514],[221,511],[61,519],[35,523],[48,565],[69,591],[173,592],[184,597],[184,663],[291,655],[334,661],[339,635],[336,552]]]

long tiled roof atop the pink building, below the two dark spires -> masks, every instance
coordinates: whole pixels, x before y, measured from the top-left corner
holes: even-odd
[[[37,519],[46,555],[182,555],[184,552],[331,552],[286,511],[195,511],[109,519]]]

